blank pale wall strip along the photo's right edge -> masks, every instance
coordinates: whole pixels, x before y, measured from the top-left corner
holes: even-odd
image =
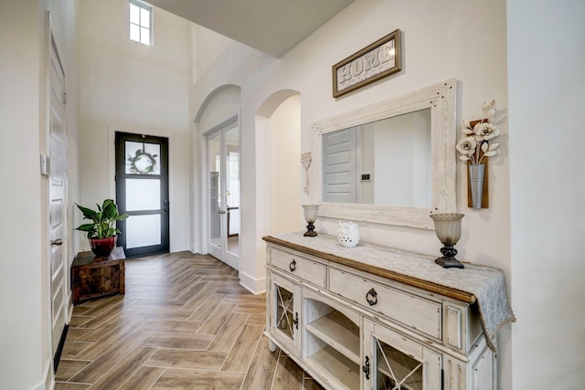
[[[507,11],[513,388],[582,389],[585,3],[515,0]]]

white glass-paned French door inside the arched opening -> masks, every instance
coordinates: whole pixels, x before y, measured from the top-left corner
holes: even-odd
[[[239,127],[229,121],[207,134],[207,248],[239,269]]]

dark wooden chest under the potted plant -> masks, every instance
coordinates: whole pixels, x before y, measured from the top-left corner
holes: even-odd
[[[123,294],[125,258],[122,247],[113,248],[108,258],[96,258],[91,251],[78,253],[71,266],[73,304]]]

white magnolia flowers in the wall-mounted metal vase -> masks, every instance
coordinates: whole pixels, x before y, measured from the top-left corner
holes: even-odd
[[[484,157],[492,157],[497,154],[499,142],[493,142],[500,135],[495,127],[495,100],[482,104],[484,119],[481,121],[463,121],[463,133],[465,136],[457,142],[457,152],[461,153],[460,160],[471,161],[473,164],[482,163]]]

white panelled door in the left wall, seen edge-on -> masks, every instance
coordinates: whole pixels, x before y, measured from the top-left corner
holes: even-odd
[[[55,356],[67,322],[67,129],[65,126],[65,71],[51,35],[48,229],[50,238],[51,343]]]

